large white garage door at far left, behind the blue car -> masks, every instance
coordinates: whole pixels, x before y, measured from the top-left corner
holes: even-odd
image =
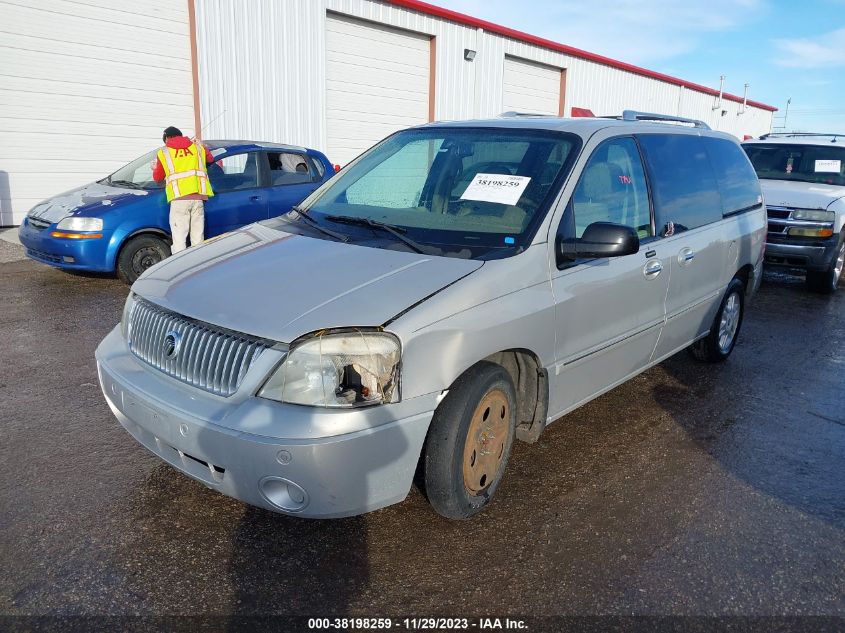
[[[0,24],[0,226],[193,134],[185,2],[0,2]]]

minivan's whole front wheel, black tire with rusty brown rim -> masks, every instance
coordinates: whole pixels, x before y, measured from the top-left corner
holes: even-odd
[[[455,381],[434,412],[425,443],[425,493],[438,513],[466,519],[490,502],[515,428],[516,391],[503,367],[482,361]]]

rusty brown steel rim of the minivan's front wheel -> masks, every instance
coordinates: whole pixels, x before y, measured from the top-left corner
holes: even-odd
[[[464,445],[464,486],[477,495],[495,481],[505,456],[510,407],[504,392],[494,389],[478,403]]]

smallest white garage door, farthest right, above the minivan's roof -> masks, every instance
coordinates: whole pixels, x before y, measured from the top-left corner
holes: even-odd
[[[560,69],[505,57],[502,112],[560,113]]]

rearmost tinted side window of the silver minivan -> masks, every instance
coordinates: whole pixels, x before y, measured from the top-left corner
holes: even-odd
[[[702,139],[716,172],[722,195],[722,215],[727,217],[757,209],[763,203],[757,172],[739,145],[724,138]]]

